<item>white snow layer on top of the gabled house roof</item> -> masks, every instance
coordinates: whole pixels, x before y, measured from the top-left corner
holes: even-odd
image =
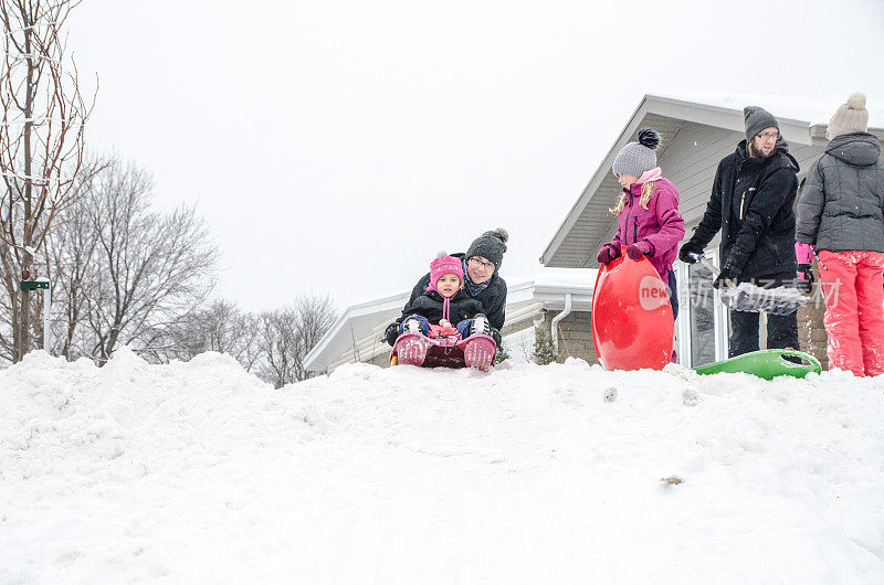
[[[789,118],[808,123],[809,126],[828,125],[835,109],[846,102],[841,97],[808,97],[788,94],[692,94],[672,95],[653,94],[656,97],[691,102],[706,106],[743,110],[746,106],[761,106],[777,118]],[[866,96],[865,108],[869,110],[869,127],[884,128],[884,100],[872,100]]]

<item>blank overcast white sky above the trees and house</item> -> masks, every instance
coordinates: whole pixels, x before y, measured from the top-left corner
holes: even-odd
[[[84,0],[69,28],[91,148],[197,204],[245,309],[410,288],[497,226],[533,274],[646,93],[884,98],[880,0]]]

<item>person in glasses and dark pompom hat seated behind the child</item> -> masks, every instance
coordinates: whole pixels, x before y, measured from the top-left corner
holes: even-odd
[[[482,304],[484,315],[487,317],[491,330],[486,331],[501,344],[499,331],[506,320],[506,281],[501,278],[498,270],[506,252],[506,242],[509,234],[503,227],[493,232],[485,232],[470,244],[465,254],[457,253],[464,263],[464,292]],[[402,322],[412,311],[412,305],[427,292],[430,285],[430,273],[418,280],[411,290],[411,297],[402,310],[402,316],[387,327],[386,338],[390,345],[396,344],[396,339],[402,333]]]

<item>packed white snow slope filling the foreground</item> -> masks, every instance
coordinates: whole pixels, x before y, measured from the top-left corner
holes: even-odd
[[[0,583],[881,584],[883,391],[32,353],[0,372]]]

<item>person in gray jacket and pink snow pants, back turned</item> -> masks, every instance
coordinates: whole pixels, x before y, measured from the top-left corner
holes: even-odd
[[[829,368],[855,375],[884,373],[884,163],[867,130],[865,96],[853,94],[801,185],[796,225],[799,277],[812,283],[814,246],[820,260]]]

